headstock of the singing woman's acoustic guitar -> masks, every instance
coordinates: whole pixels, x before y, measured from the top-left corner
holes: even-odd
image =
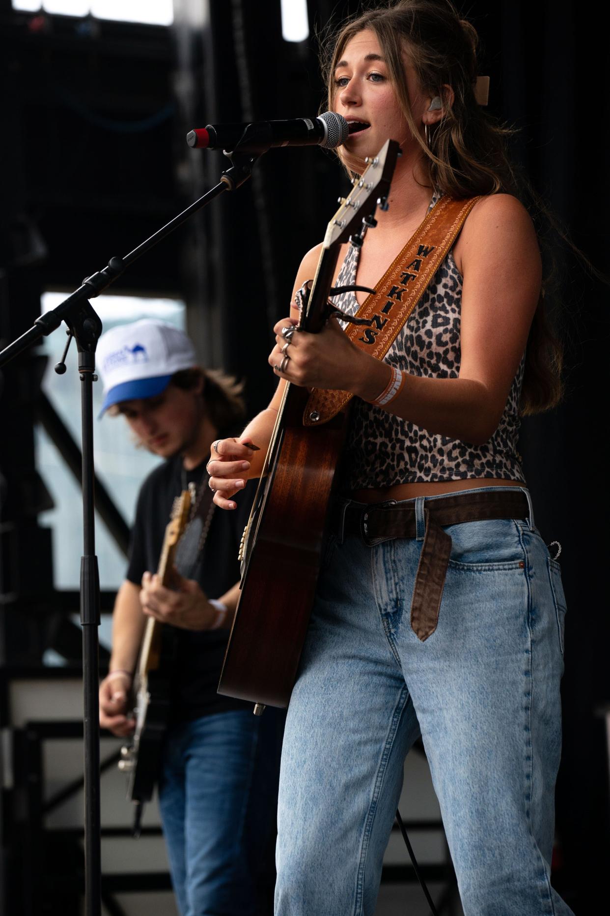
[[[377,202],[387,197],[400,148],[396,140],[386,140],[377,156],[369,160],[367,168],[354,181],[348,197],[341,202],[328,224],[323,243],[325,248],[347,242],[362,219],[374,212]]]

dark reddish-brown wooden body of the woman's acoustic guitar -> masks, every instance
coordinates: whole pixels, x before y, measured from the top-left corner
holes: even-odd
[[[284,429],[254,501],[253,546],[219,693],[270,706],[290,700],[309,624],[346,414],[303,427],[308,393],[291,386]]]

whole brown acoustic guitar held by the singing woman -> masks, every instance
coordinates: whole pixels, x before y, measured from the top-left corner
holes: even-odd
[[[399,145],[388,140],[355,180],[347,200],[326,228],[316,277],[301,309],[299,327],[322,330],[339,246],[360,221],[375,225],[378,204],[387,206]],[[357,235],[355,242],[361,244]],[[369,290],[370,291],[370,290]],[[370,322],[366,322],[370,323]],[[326,513],[345,438],[347,411],[316,427],[304,427],[304,387],[286,385],[251,516],[241,541],[241,595],[219,693],[287,706],[314,602]],[[315,420],[312,417],[310,420]]]

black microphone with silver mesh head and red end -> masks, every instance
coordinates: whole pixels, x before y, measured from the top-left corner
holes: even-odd
[[[196,149],[234,149],[263,153],[270,147],[325,147],[335,149],[348,139],[349,125],[335,112],[313,120],[297,117],[289,121],[256,121],[253,124],[209,124],[187,134],[187,144]],[[240,142],[241,141],[241,142]]]

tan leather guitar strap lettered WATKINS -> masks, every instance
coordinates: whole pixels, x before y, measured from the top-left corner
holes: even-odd
[[[442,197],[436,203],[375,285],[376,292],[357,311],[355,317],[368,319],[370,324],[348,327],[345,333],[352,344],[383,359],[479,200],[480,197],[466,201]],[[313,388],[305,405],[304,426],[320,426],[332,420],[352,397],[348,391]]]

